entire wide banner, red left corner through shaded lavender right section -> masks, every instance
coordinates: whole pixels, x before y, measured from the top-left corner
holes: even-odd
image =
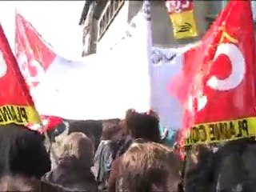
[[[163,127],[178,130],[182,126],[182,105],[177,98],[168,94],[166,87],[170,78],[181,69],[183,53],[192,45],[168,49],[152,47],[150,22],[145,21],[142,14],[138,14],[131,20],[128,29],[124,30],[120,41],[113,42],[106,54],[86,56],[80,62],[70,61],[54,54],[54,60],[52,60],[52,54],[48,53],[49,51],[54,53],[54,51],[50,50],[50,46],[47,46],[47,43],[21,14],[17,15],[17,19],[16,54],[24,76],[30,84],[30,91],[34,93],[34,97],[38,95],[34,99],[38,103],[38,109],[41,109],[39,110],[40,114],[77,120],[118,118],[122,117],[125,110],[134,106],[141,111],[146,111],[149,108],[158,111]],[[26,30],[22,30],[25,26]],[[26,33],[22,31],[26,31]],[[22,39],[18,39],[18,36]],[[140,40],[138,41],[138,39]],[[40,57],[36,51],[38,48],[35,47],[39,47],[41,50]],[[127,47],[129,47],[129,51]],[[134,50],[131,50],[130,47],[134,47]],[[34,50],[31,52],[31,56],[29,56],[28,50]],[[123,51],[119,53],[118,50]],[[150,52],[150,58],[146,56],[148,52]],[[26,55],[28,56],[26,57]],[[27,62],[26,59],[32,58],[32,56],[33,59]],[[49,65],[49,62],[52,64]],[[41,64],[36,65],[37,63]],[[146,80],[148,65],[150,65],[150,83]],[[122,69],[123,66],[126,68]],[[43,69],[40,70],[41,68]],[[98,71],[97,68],[103,70]],[[59,69],[62,71],[60,72]],[[104,74],[104,71],[108,74]],[[136,76],[132,75],[134,80],[130,80],[131,74],[136,74]],[[101,75],[102,77],[100,77]],[[112,82],[109,77],[113,77]],[[86,80],[83,80],[85,78]],[[95,87],[99,88],[95,90]],[[150,90],[150,94],[148,94],[148,90]],[[94,94],[96,91],[98,93]],[[134,94],[133,91],[139,94]],[[102,94],[105,92],[108,94]],[[57,94],[58,96],[55,96]],[[147,99],[150,99],[150,104]],[[105,103],[98,103],[98,101]],[[119,104],[117,105],[117,103]],[[75,105],[80,107],[72,110]],[[109,105],[111,112],[106,105]],[[69,110],[67,106],[73,107]],[[98,109],[100,112],[94,109]],[[82,114],[85,115],[82,116]]]

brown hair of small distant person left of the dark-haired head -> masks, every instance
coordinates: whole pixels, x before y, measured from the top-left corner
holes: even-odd
[[[117,134],[121,130],[119,122],[103,122],[102,127],[102,139],[105,140],[110,140],[114,134]]]

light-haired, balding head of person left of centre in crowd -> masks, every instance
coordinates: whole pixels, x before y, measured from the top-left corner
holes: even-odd
[[[82,165],[91,166],[94,159],[94,142],[86,134],[71,133],[64,139],[61,157],[72,157]]]

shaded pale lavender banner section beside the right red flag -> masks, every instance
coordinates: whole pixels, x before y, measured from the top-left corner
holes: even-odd
[[[158,111],[162,126],[178,130],[182,127],[182,105],[167,88],[170,79],[182,69],[187,50],[196,44],[179,48],[152,47],[150,60],[151,108]]]

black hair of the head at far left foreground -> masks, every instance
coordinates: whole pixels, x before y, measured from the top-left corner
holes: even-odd
[[[10,142],[9,168],[13,175],[41,178],[50,171],[50,154],[44,146],[41,134],[20,128],[17,136]]]

